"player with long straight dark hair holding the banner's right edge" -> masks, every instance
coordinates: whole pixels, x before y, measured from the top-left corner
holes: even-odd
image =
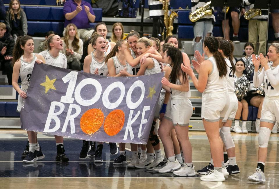
[[[196,172],[192,163],[192,147],[188,137],[193,106],[189,100],[191,97],[189,78],[180,66],[183,62],[183,55],[178,48],[169,47],[164,52],[164,61],[167,66],[165,67],[166,74],[162,78],[162,84],[170,88],[171,99],[167,105],[158,134],[164,145],[168,161],[166,166],[158,172],[171,172],[180,168],[181,164],[183,165],[176,159],[174,144],[170,137],[170,133],[174,129],[184,153],[185,163],[182,169],[173,173],[177,176],[194,176]]]

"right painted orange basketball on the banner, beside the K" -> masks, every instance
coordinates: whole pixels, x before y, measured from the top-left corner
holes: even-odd
[[[114,136],[121,131],[125,122],[125,114],[122,110],[113,110],[105,118],[104,130],[109,136]]]

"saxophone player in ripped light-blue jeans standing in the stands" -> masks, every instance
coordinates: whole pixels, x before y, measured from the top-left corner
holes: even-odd
[[[192,4],[192,12],[196,9],[204,6],[210,0],[191,0]],[[212,14],[206,15],[203,18],[199,19],[194,24],[194,39],[192,46],[194,46],[194,52],[198,50],[201,54],[203,54],[203,39],[205,37],[212,36],[213,24],[215,23],[214,16],[214,7],[212,7]]]

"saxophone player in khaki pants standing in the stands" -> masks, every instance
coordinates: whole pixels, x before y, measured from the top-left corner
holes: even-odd
[[[243,0],[246,11],[254,8],[255,0]],[[267,46],[267,16],[268,10],[261,9],[262,14],[257,15],[249,19],[248,25],[248,41],[253,43],[254,47],[257,47],[257,41],[259,38],[260,47],[259,50],[255,50],[256,54],[266,54]]]

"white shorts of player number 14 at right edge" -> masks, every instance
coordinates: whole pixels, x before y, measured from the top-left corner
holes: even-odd
[[[279,121],[279,99],[266,99],[262,104],[261,120],[268,123]]]

